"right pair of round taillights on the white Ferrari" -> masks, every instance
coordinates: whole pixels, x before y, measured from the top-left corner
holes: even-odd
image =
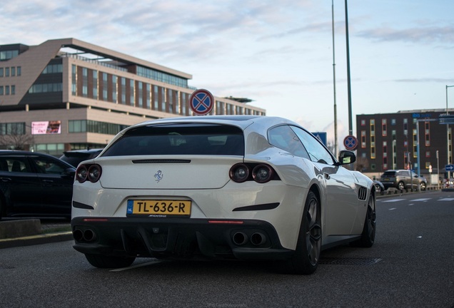
[[[274,169],[266,164],[237,163],[230,168],[228,175],[236,183],[243,183],[247,180],[255,180],[257,183],[279,180]]]

